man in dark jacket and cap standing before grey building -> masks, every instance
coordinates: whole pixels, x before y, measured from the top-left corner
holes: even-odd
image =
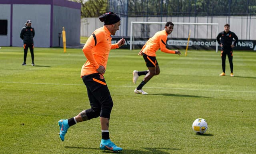
[[[24,48],[24,61],[22,65],[26,65],[26,58],[28,53],[28,48],[30,49],[32,63],[31,65],[34,66],[34,38],[35,30],[31,27],[31,20],[27,20],[26,24],[22,28],[20,32],[20,38],[23,40],[23,48]]]

